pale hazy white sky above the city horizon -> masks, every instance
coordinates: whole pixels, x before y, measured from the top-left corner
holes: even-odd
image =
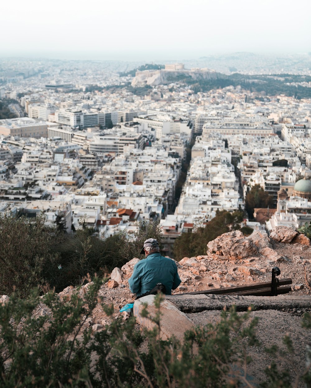
[[[0,56],[190,59],[311,51],[310,0],[3,0]]]

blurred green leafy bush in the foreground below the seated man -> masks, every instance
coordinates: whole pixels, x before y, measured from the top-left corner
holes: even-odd
[[[53,292],[20,300],[12,295],[0,306],[0,386],[28,387],[252,387],[246,375],[248,346],[255,346],[256,320],[250,312],[239,317],[224,311],[219,324],[185,333],[184,344],[159,339],[156,327],[145,335],[135,320],[113,320],[91,336],[80,328],[98,301],[98,278],[81,298],[72,294],[60,300]],[[156,298],[159,307],[161,298]],[[112,307],[102,305],[107,314]],[[33,315],[33,311],[45,315]],[[158,310],[159,311],[159,310]],[[147,312],[145,312],[147,315]],[[306,320],[306,325],[309,325]],[[288,349],[290,341],[287,339]],[[275,352],[275,349],[270,349]],[[242,368],[241,368],[242,366]],[[264,387],[290,387],[289,377],[275,364],[267,368]]]

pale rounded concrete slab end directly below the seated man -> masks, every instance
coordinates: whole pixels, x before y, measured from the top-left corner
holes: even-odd
[[[147,327],[147,329],[152,329],[155,324],[151,319],[142,317],[141,312],[144,308],[143,304],[147,303],[147,311],[149,312],[150,317],[153,318],[156,316],[157,311],[154,305],[154,298],[155,295],[147,295],[135,300],[134,302],[133,312],[136,317],[136,321],[140,325]],[[177,340],[182,342],[183,333],[194,327],[192,320],[190,320],[185,313],[178,310],[178,308],[167,299],[162,301],[160,313],[162,314],[160,322],[160,336],[163,340],[166,340],[174,335]]]

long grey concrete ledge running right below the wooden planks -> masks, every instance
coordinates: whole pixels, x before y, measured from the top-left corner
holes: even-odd
[[[281,310],[282,308],[311,308],[308,295],[278,296],[238,296],[238,295],[167,295],[166,298],[185,313],[205,310],[222,310],[236,305],[237,311],[246,311],[253,305],[254,310]]]

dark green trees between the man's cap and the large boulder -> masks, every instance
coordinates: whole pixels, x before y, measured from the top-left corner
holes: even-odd
[[[183,257],[206,255],[206,245],[223,233],[232,230],[240,230],[243,221],[243,212],[217,211],[216,217],[206,223],[205,227],[199,227],[192,233],[183,233],[174,243],[173,251],[176,260]]]

